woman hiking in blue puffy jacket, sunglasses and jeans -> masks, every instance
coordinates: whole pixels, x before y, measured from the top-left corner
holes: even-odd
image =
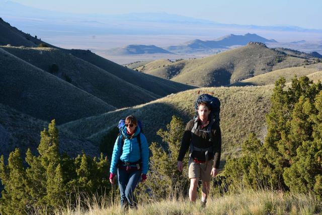
[[[110,168],[110,182],[114,184],[117,174],[123,209],[136,208],[133,195],[139,180],[144,182],[148,171],[149,149],[137,119],[130,115],[125,118],[121,133],[116,138]]]

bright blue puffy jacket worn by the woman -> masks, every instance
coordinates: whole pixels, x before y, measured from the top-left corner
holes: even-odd
[[[113,149],[113,155],[112,155],[112,161],[111,161],[111,168],[110,172],[116,174],[117,170],[117,163],[119,160],[123,162],[137,162],[141,159],[142,161],[142,174],[147,174],[147,171],[149,169],[149,148],[147,144],[146,137],[143,133],[140,132],[140,127],[136,126],[136,131],[134,133],[133,138],[128,138],[130,135],[126,133],[126,126],[124,125],[121,128],[122,134],[119,135],[116,138],[114,149]],[[137,141],[136,136],[140,135],[141,138],[141,152],[139,149],[139,144]],[[123,151],[121,150],[122,146],[122,135],[125,136],[124,145],[123,145]],[[122,151],[122,155],[121,155]]]

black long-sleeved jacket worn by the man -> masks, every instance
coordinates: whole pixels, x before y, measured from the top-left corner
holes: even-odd
[[[185,154],[187,153],[190,142],[193,144],[194,147],[198,148],[209,148],[213,146],[213,151],[208,152],[208,160],[214,159],[213,167],[219,168],[220,163],[220,155],[221,155],[221,131],[219,125],[214,123],[211,128],[213,140],[209,141],[210,135],[209,133],[198,131],[198,129],[201,129],[200,122],[198,121],[198,127],[195,133],[192,135],[191,130],[194,126],[194,120],[190,120],[187,123],[185,132],[183,134],[181,147],[179,151],[178,161],[182,161],[185,157]],[[202,130],[207,130],[207,127],[209,125],[202,128]],[[194,151],[191,155],[192,158],[196,158],[198,161],[206,161],[205,152],[197,152]]]

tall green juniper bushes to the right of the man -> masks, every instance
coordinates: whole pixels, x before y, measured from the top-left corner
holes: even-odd
[[[285,82],[280,78],[275,83],[264,142],[250,134],[244,156],[227,160],[227,182],[230,189],[311,191],[321,198],[322,86],[295,77],[285,91]]]

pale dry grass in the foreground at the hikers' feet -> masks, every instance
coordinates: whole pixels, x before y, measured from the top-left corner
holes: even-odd
[[[106,196],[87,198],[85,205],[76,205],[56,211],[61,215],[94,215],[124,214],[119,203],[111,203]],[[275,191],[243,191],[224,196],[213,195],[207,200],[206,208],[200,202],[190,203],[189,199],[165,199],[162,201],[143,202],[137,210],[129,210],[128,214],[320,214],[322,205],[314,196],[308,194],[291,194]],[[48,214],[39,210],[38,214]]]

